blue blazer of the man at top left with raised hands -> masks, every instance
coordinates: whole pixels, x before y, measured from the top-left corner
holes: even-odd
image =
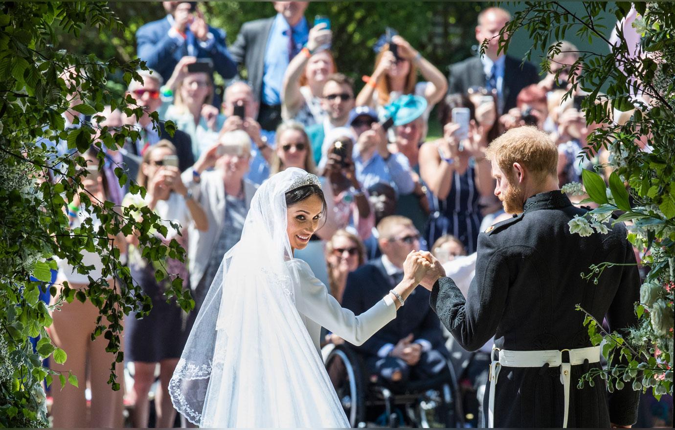
[[[138,58],[146,61],[151,69],[157,70],[165,82],[171,78],[171,73],[173,73],[178,61],[188,55],[188,40],[181,44],[178,40],[169,36],[170,29],[169,18],[165,17],[161,20],[148,22],[136,31]],[[211,26],[209,26],[209,32],[213,34],[214,38],[209,50],[202,48],[198,40],[194,38],[195,57],[212,59],[213,68],[223,78],[234,78],[237,73],[237,65],[227,52],[225,32]]]

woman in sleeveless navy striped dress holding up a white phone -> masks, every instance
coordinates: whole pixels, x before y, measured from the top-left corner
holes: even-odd
[[[433,197],[425,237],[427,243],[435,243],[443,235],[452,235],[468,253],[473,253],[483,220],[479,199],[490,197],[493,190],[490,163],[485,160],[487,132],[475,121],[475,108],[468,97],[451,94],[443,104],[443,137],[423,144],[419,153],[420,175]],[[462,124],[452,121],[455,109],[469,111],[469,116],[462,119],[468,120],[464,123],[468,134],[463,142],[458,135]]]

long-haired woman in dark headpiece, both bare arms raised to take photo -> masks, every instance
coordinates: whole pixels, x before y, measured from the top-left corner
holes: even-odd
[[[383,45],[375,59],[373,74],[356,96],[356,106],[382,109],[403,94],[422,96],[427,99],[422,133],[424,140],[427,137],[429,113],[448,90],[448,81],[443,73],[411,47],[407,40],[396,35],[391,38],[391,42],[396,44],[397,54],[394,55],[394,52],[389,50],[388,43]],[[417,71],[422,73],[426,82],[417,82]]]

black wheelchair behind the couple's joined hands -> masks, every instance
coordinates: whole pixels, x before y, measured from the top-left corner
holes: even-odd
[[[348,344],[328,344],[323,363],[351,427],[464,427],[459,387],[450,363],[441,375],[412,380],[394,390],[367,375],[361,357]]]

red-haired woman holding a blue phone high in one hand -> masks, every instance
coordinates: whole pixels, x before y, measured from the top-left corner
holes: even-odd
[[[329,51],[332,38],[330,21],[325,17],[317,18],[315,26],[309,30],[306,47],[288,64],[281,93],[281,117],[284,121],[298,121],[305,127],[323,121],[323,84],[331,73],[338,70]]]

